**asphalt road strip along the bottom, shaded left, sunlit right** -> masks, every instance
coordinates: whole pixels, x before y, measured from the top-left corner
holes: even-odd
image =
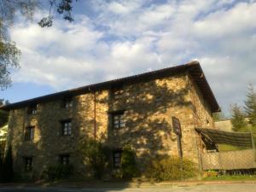
[[[193,186],[160,186],[143,188],[41,188],[41,187],[0,187],[0,192],[256,192],[256,183],[201,184]]]

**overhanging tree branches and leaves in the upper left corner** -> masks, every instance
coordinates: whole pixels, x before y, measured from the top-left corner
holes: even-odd
[[[75,0],[77,1],[77,0]],[[8,28],[15,20],[17,12],[32,20],[35,9],[41,8],[42,0],[1,0],[0,1],[0,89],[5,90],[11,84],[10,69],[18,68],[20,50],[10,41]],[[64,20],[73,21],[73,0],[49,0],[49,15],[38,22],[39,26],[52,26],[55,11],[63,15]]]

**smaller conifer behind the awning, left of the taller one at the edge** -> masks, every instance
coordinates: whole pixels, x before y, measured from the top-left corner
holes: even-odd
[[[237,104],[231,106],[231,123],[233,131],[246,131],[247,129],[245,114]]]

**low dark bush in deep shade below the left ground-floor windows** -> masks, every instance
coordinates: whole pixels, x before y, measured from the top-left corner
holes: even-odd
[[[44,177],[48,180],[59,180],[68,178],[73,175],[73,166],[72,165],[58,165],[58,166],[49,166],[44,172]]]

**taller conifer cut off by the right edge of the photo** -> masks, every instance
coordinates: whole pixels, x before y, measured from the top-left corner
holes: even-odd
[[[247,90],[247,99],[245,101],[245,112],[249,123],[256,128],[256,92],[253,85],[250,84]]]

